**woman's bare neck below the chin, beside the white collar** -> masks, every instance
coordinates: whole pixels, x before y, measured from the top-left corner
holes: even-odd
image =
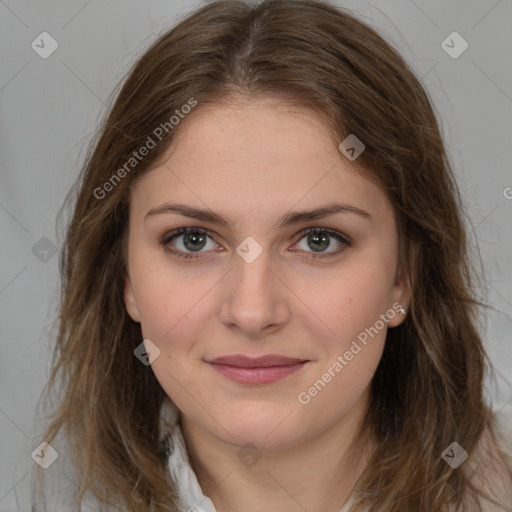
[[[355,406],[327,431],[281,450],[260,450],[256,463],[182,417],[190,463],[203,494],[218,512],[339,512],[371,457],[375,443],[356,440],[364,408]],[[334,449],[336,447],[336,449]]]

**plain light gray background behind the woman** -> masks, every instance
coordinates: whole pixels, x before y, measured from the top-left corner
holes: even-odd
[[[488,396],[499,408],[512,399],[512,2],[336,3],[398,47],[434,101],[484,261],[480,296],[494,308],[485,334],[497,379]],[[0,0],[1,511],[14,509],[13,489],[28,480],[39,444],[33,420],[50,363],[57,212],[115,85],[160,32],[201,4]],[[31,47],[43,31],[59,45],[47,59]],[[469,43],[457,59],[441,47],[453,31]]]

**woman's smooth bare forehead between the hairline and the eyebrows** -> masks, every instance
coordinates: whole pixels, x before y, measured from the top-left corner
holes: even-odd
[[[236,218],[357,203],[384,215],[384,193],[334,144],[314,111],[277,100],[198,105],[134,196],[148,210],[170,199]]]

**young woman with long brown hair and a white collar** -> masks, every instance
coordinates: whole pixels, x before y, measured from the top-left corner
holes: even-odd
[[[63,256],[43,440],[65,436],[77,499],[510,510],[438,123],[350,14],[220,1],[160,37],[88,156]]]

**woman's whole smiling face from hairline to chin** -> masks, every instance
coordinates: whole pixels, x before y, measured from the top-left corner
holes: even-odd
[[[125,302],[186,421],[277,449],[364,409],[408,296],[391,204],[356,164],[313,112],[238,98],[199,105],[135,183]]]

